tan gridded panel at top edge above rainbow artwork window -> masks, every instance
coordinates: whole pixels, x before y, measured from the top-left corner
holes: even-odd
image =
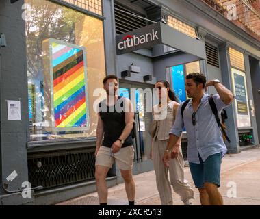
[[[95,14],[102,15],[102,0],[62,0]]]

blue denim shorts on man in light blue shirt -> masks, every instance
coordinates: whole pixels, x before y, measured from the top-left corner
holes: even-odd
[[[200,164],[190,163],[190,172],[196,188],[203,188],[204,183],[213,183],[220,187],[220,166],[222,162],[222,153],[216,153],[207,157],[205,162],[200,159]]]

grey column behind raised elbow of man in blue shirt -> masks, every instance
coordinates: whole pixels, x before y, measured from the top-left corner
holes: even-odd
[[[219,47],[219,53],[220,53],[220,66],[221,66],[221,72],[222,72],[222,81],[224,86],[231,90],[232,89],[232,79],[231,79],[231,66],[229,61],[229,47],[227,44],[223,44]],[[226,108],[226,113],[228,116],[228,119],[226,120],[226,126],[228,127],[227,135],[229,136],[229,139],[231,140],[231,143],[226,142],[226,147],[229,151],[229,153],[239,153],[240,147],[239,147],[239,138],[238,138],[238,131],[237,131],[237,118],[235,113],[235,103],[232,103],[231,106]]]

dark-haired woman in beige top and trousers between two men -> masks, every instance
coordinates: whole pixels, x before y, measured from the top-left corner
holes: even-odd
[[[172,205],[172,190],[181,196],[184,205],[190,205],[190,199],[194,198],[194,190],[184,179],[184,162],[181,152],[181,141],[177,142],[180,147],[180,153],[177,158],[170,159],[169,167],[166,168],[163,162],[164,152],[169,139],[169,131],[174,124],[175,115],[179,107],[178,99],[174,92],[170,89],[168,81],[158,81],[155,88],[159,92],[159,104],[153,107],[153,123],[156,123],[155,131],[153,131],[153,142],[151,158],[155,169],[157,189],[161,199],[161,205]],[[167,98],[166,101],[162,101]],[[166,102],[166,103],[164,103]],[[164,115],[163,119],[158,119],[158,115]],[[169,151],[168,153],[171,153]],[[168,179],[168,171],[170,173],[170,181]]]

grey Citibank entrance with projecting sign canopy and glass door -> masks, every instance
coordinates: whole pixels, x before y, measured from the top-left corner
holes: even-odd
[[[151,106],[157,101],[153,92],[155,82],[159,79],[169,81],[179,99],[183,101],[183,96],[186,98],[185,73],[181,66],[187,66],[187,72],[200,72],[199,62],[206,58],[205,43],[158,22],[116,36],[116,53],[118,60],[123,60],[118,62],[119,68],[126,69],[119,75],[120,96],[131,99],[135,106],[137,135],[134,140],[133,173],[138,174],[153,170],[150,159],[151,136],[147,130],[153,120]],[[148,57],[142,53],[150,54]],[[173,66],[176,63],[179,65]],[[152,66],[150,73],[144,70],[147,66]],[[187,140],[184,135],[184,157],[186,151]]]

